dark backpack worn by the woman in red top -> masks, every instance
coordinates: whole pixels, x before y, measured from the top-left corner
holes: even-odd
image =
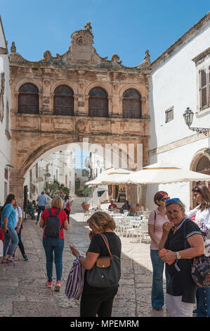
[[[55,215],[52,214],[51,209],[48,209],[49,216],[46,219],[46,225],[44,227],[44,235],[46,237],[57,238],[60,237],[60,218],[58,218],[58,213],[60,213],[60,209],[56,211]]]

